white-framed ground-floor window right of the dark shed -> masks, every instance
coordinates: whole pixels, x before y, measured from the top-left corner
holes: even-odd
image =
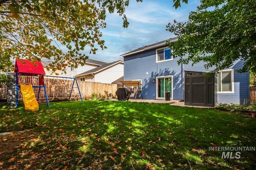
[[[234,71],[223,70],[217,73],[218,93],[234,93]]]

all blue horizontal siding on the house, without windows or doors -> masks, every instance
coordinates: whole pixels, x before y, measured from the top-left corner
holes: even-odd
[[[142,95],[144,99],[156,99],[157,82],[152,82],[153,79],[157,81],[156,77],[172,76],[173,79],[173,99],[184,99],[184,71],[198,71],[206,72],[214,68],[206,70],[204,63],[196,63],[192,66],[190,62],[188,65],[178,65],[179,58],[170,61],[163,61],[156,63],[156,47],[145,51],[138,51],[125,55],[124,57],[124,80],[142,79]],[[185,55],[184,57],[187,57]],[[243,104],[244,101],[250,99],[249,88],[249,73],[237,73],[237,69],[243,67],[244,61],[236,61],[230,69],[234,69],[234,93],[217,94],[218,103],[238,103]],[[183,70],[183,71],[182,71]]]

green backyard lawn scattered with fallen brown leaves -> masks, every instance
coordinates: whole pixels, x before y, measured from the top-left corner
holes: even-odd
[[[229,159],[209,150],[256,147],[255,118],[216,109],[98,100],[50,103],[36,112],[21,106],[0,109],[0,132],[6,131],[15,133],[1,138],[0,169],[256,167],[256,151],[242,150],[240,158]],[[1,151],[18,140],[12,151]]]

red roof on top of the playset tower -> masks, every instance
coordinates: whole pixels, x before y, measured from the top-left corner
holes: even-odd
[[[14,72],[45,75],[44,67],[41,61],[36,61],[36,63],[32,63],[27,59],[18,59],[18,58],[16,59],[16,62],[15,62]]]

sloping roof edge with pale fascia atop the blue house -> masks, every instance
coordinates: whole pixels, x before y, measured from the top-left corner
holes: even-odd
[[[125,53],[125,54],[120,55],[120,56],[121,57],[126,57],[128,55],[135,54],[135,53],[140,53],[142,51],[146,51],[146,50],[149,50],[149,49],[164,47],[164,46],[166,46],[166,42],[168,42],[168,41],[175,42],[177,40],[178,40],[178,37],[170,38],[168,40],[164,40],[164,41],[161,41],[161,42],[157,42],[157,43],[153,43],[153,44],[150,44],[150,45],[146,45],[146,46],[140,47],[138,49],[135,49],[133,51],[130,51],[130,52]]]

